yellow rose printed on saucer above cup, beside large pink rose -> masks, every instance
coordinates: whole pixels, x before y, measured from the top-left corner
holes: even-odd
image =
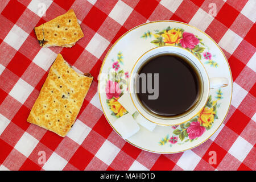
[[[175,43],[179,44],[180,39],[181,39],[181,31],[179,30],[169,30],[169,31],[164,31],[164,34],[162,34],[162,37],[164,38],[164,43],[166,43],[166,45],[171,45],[174,46]]]

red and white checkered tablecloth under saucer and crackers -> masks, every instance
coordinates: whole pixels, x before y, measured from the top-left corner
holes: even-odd
[[[217,15],[205,16],[214,5]],[[40,17],[43,9],[46,15]],[[72,48],[40,47],[33,28],[69,9],[75,10],[84,38]],[[255,170],[255,10],[255,0],[1,0],[0,170]],[[232,105],[207,142],[168,155],[131,146],[106,121],[97,79],[73,126],[75,133],[62,138],[26,122],[57,53],[97,78],[115,40],[138,24],[162,19],[200,28],[228,58],[234,81]],[[209,151],[216,151],[217,164],[209,164]]]

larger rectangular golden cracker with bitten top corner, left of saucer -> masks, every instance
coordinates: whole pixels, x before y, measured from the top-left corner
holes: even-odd
[[[46,81],[27,121],[65,137],[73,126],[93,77],[75,72],[61,54],[49,69]]]

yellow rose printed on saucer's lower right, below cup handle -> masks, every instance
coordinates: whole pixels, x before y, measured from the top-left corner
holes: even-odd
[[[208,109],[207,107],[204,107],[204,109],[199,114],[198,121],[203,125],[204,127],[209,127],[210,123],[214,121],[214,115],[215,112],[213,111],[213,108]]]

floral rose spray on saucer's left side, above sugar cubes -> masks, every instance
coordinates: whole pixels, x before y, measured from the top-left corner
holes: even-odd
[[[118,98],[128,89],[127,79],[129,78],[129,72],[121,69],[121,65],[123,65],[123,55],[121,52],[117,54],[117,61],[112,61],[112,68],[109,68],[108,79],[106,80],[106,103],[112,115],[119,118],[127,113],[127,110],[118,102]]]

